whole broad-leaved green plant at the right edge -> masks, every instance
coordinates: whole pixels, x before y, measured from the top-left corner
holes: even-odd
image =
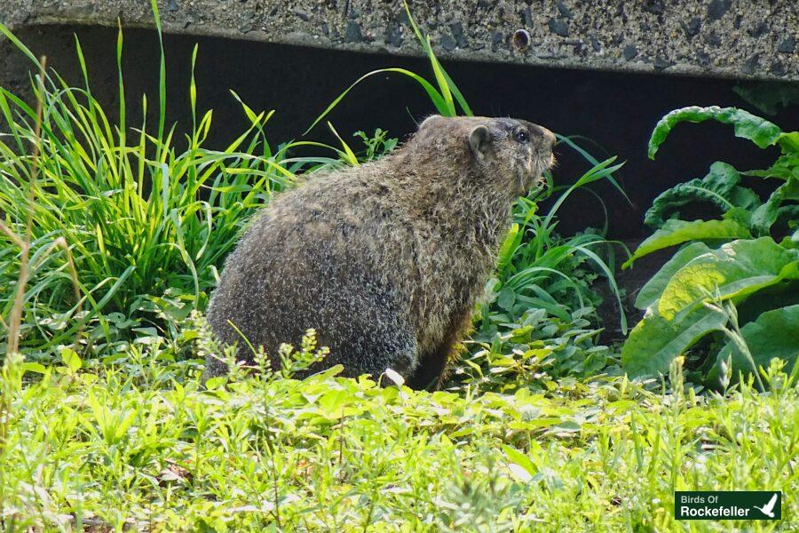
[[[720,365],[731,354],[734,370],[745,372],[756,370],[753,364],[767,366],[771,357],[784,359],[790,369],[799,355],[799,337],[793,327],[799,320],[793,296],[799,288],[799,205],[795,203],[799,200],[799,132],[783,132],[732,107],[685,107],[657,124],[649,142],[650,157],[676,123],[705,120],[731,124],[738,137],[758,147],[778,145],[781,154],[765,170],[740,172],[727,163],[713,163],[705,178],[677,185],[655,199],[645,222],[658,229],[623,267],[653,251],[684,246],[638,293],[636,306],[645,310],[645,317],[630,332],[621,353],[632,375],[665,372],[676,356],[700,339],[720,338],[729,331],[732,314],[724,309],[731,306],[738,308],[736,321],[738,310],[748,317],[740,329],[748,348],[731,340],[716,357],[700,358],[708,380],[717,381]],[[741,177],[772,179],[779,185],[763,202],[740,185]],[[677,218],[681,206],[695,201],[715,204],[724,211],[722,218]],[[721,306],[708,305],[714,301]],[[764,338],[770,338],[767,345],[762,345]],[[758,344],[773,346],[763,350]],[[756,354],[749,357],[751,364],[745,361],[744,350]]]

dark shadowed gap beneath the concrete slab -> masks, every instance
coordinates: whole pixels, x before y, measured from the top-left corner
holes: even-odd
[[[82,84],[75,34],[83,46],[92,90],[108,110],[115,109],[115,28],[45,26],[18,32],[33,52],[48,56],[51,68],[68,81]],[[332,99],[370,70],[402,67],[431,77],[427,61],[420,58],[166,35],[168,119],[178,122],[178,131],[191,123],[188,84],[195,43],[199,44],[195,70],[198,107],[214,110],[211,147],[223,147],[246,127],[241,107],[230,90],[255,110],[276,110],[267,132],[277,145],[298,138]],[[143,92],[148,95],[149,107],[157,107],[158,58],[154,31],[124,30],[123,72],[130,126],[140,123],[136,110],[140,109]],[[0,44],[0,67],[0,84],[12,91],[30,93],[30,64],[7,42]],[[646,142],[654,124],[676,107],[737,106],[759,114],[732,91],[734,80],[474,62],[447,62],[445,67],[476,114],[517,116],[559,133],[581,135],[596,141],[598,147],[590,143],[587,147],[597,158],[604,158],[606,153],[627,161],[621,181],[634,206],[629,206],[612,187],[596,187],[610,212],[610,233],[614,238],[646,235],[643,213],[654,196],[678,182],[704,176],[710,163],[723,160],[742,170],[759,168],[770,163],[776,154],[776,149],[759,150],[748,141],[734,138],[732,128],[703,123],[679,126],[661,147],[658,159],[647,159]],[[417,84],[404,76],[381,75],[354,89],[329,115],[329,120],[345,138],[353,131],[370,132],[380,127],[401,139],[415,130],[415,121],[433,110]],[[783,109],[770,119],[784,130],[797,129],[799,109]],[[309,137],[333,141],[323,125]],[[355,143],[355,139],[352,141]],[[573,181],[588,169],[567,147],[559,149],[558,159],[555,177],[564,182]],[[568,234],[601,226],[603,215],[593,195],[579,193],[564,204],[560,220],[561,231]]]

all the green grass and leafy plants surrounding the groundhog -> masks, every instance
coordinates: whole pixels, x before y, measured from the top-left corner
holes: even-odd
[[[155,5],[154,11],[157,21]],[[415,79],[430,96],[431,111],[471,115],[408,17],[430,59],[431,81],[407,70],[383,72]],[[782,283],[793,279],[786,265],[795,261],[795,216],[784,208],[795,199],[795,134],[738,110],[683,110],[664,118],[653,133],[653,150],[681,118],[726,117],[758,146],[779,144],[778,162],[751,175],[784,183],[773,201],[758,201],[732,178],[734,170],[716,163],[711,174],[723,176],[708,174],[661,195],[647,223],[671,236],[656,232],[629,261],[653,243],[685,245],[638,295],[637,303],[652,312],[621,348],[599,342],[596,284],[607,283],[621,302],[613,273],[617,255],[626,259],[627,251],[605,238],[606,225],[578,235],[557,231],[558,209],[575,191],[590,193],[591,183],[606,179],[624,194],[617,180],[621,163],[598,161],[579,138],[558,136],[558,149],[576,150],[586,171],[570,179],[556,169],[547,187],[515,204],[487,297],[444,390],[412,391],[392,383],[391,373],[336,378],[339,368],[294,379],[326,353],[312,330],[301,346],[285,347],[283,370],[274,372],[265,359],[260,368],[242,369],[227,350],[231,375],[203,386],[205,354],[223,354],[225,347],[210,336],[202,311],[249,217],[298,179],[379,157],[397,139],[380,130],[339,134],[326,119],[347,90],[305,138],[279,145],[265,135],[273,112],[240,100],[249,128],[225,149],[212,150],[204,140],[213,115],[196,109],[192,82],[194,120],[178,142],[177,128],[164,119],[163,60],[155,103],[141,100],[142,107],[158,109],[157,121],[131,126],[122,103],[112,123],[92,96],[77,39],[79,87],[43,68],[0,30],[38,73],[33,105],[0,89],[0,341],[8,346],[0,371],[4,530],[799,526],[791,496],[799,491],[796,370],[789,342],[769,330],[786,328],[780,321],[795,317],[795,306],[784,300],[738,313],[744,296],[754,304],[769,291],[790,293]],[[122,31],[116,46],[121,59]],[[202,53],[195,49],[192,71],[196,60]],[[370,77],[356,83],[375,83]],[[235,93],[231,98],[238,99]],[[755,125],[748,129],[740,121]],[[313,128],[323,125],[338,146],[310,140]],[[319,152],[307,155],[308,149]],[[726,188],[713,187],[716,182]],[[675,240],[677,224],[712,226],[671,218],[679,206],[716,195],[728,215],[715,222],[732,220],[748,233],[721,239],[688,233]],[[540,212],[538,204],[548,198],[551,207]],[[746,246],[758,247],[752,252],[757,260],[779,248],[767,266],[755,266],[779,263],[779,271],[736,285],[739,292],[724,290],[723,283],[702,285],[707,294],[688,286],[690,302],[671,305],[673,314],[660,309],[661,302],[667,306],[668,282],[690,260],[721,268],[721,254],[730,247],[746,254],[738,250]],[[697,253],[689,257],[689,251]],[[719,336],[716,345],[686,358],[691,343],[666,355],[647,352],[640,340],[640,331],[653,327],[647,320],[674,320],[694,309],[724,316],[717,330],[729,340]],[[774,310],[783,311],[775,316]],[[776,355],[787,355],[769,361],[758,347],[766,336],[774,346],[787,346]],[[752,362],[762,370],[748,372]],[[631,380],[628,371],[640,377]],[[675,489],[781,489],[783,521],[676,522]]]

